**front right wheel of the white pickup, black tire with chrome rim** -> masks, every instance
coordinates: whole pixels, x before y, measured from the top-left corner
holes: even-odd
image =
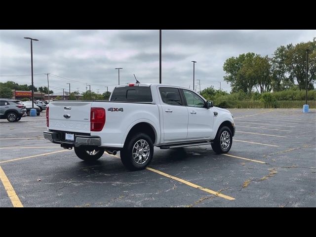
[[[221,144],[221,137],[223,139],[222,144]],[[211,145],[212,145],[213,151],[216,154],[224,154],[224,153],[228,153],[229,150],[231,150],[232,144],[233,144],[232,131],[231,129],[229,129],[229,127],[223,126],[219,129],[218,133],[216,134],[216,138]]]

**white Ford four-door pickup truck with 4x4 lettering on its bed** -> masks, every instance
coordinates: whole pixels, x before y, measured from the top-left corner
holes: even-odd
[[[195,91],[167,84],[129,83],[115,87],[109,101],[54,101],[46,111],[44,138],[83,160],[116,155],[129,170],[144,169],[160,149],[232,146],[232,114]]]

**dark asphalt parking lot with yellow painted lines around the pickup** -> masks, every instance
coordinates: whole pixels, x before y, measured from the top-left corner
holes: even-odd
[[[231,109],[227,155],[210,146],[160,150],[127,171],[116,156],[93,164],[43,139],[40,117],[0,120],[1,207],[316,206],[316,110]]]

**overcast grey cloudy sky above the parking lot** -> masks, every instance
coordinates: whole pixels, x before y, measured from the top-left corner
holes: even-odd
[[[133,74],[143,83],[159,82],[158,30],[0,30],[0,81],[31,84],[30,40],[33,41],[34,74],[51,73],[66,79],[49,77],[57,88],[103,93],[120,83],[134,82]],[[162,83],[193,86],[200,79],[201,89],[214,85],[230,91],[224,82],[225,60],[241,53],[271,56],[276,48],[288,43],[312,41],[316,30],[162,30]],[[46,75],[34,76],[35,86],[47,86]],[[197,88],[198,90],[199,88]]]

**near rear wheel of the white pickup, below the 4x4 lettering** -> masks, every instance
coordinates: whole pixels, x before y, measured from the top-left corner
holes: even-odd
[[[129,136],[127,139],[128,140],[125,141],[123,149],[120,151],[120,159],[122,163],[131,171],[145,169],[152,161],[154,155],[154,145],[152,139],[145,133],[137,133]],[[143,143],[143,141],[145,142]],[[137,147],[140,148],[137,149]],[[134,155],[133,152],[135,153]],[[141,154],[140,157],[136,154],[138,152]],[[146,157],[144,157],[144,155]],[[138,159],[137,161],[134,160],[134,156],[136,156],[135,159]]]

